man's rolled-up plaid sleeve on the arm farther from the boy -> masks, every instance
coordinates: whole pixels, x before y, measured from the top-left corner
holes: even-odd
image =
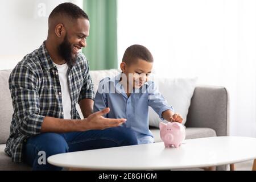
[[[18,65],[9,77],[9,89],[13,100],[14,115],[18,131],[23,135],[40,134],[44,120],[39,115],[38,78],[31,68]]]

